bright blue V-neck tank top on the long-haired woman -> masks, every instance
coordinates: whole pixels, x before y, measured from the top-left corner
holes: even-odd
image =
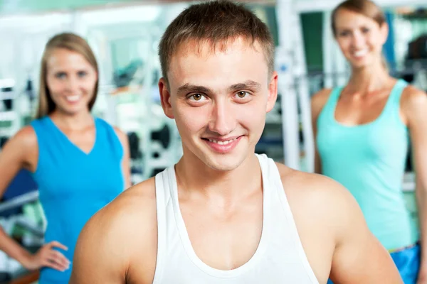
[[[95,118],[95,145],[89,153],[75,146],[48,117],[31,122],[38,142],[38,165],[33,174],[46,215],[45,242],[59,241],[58,249],[73,261],[75,243],[88,219],[125,187],[123,149],[112,126]],[[43,268],[38,283],[68,283],[72,264],[60,272]]]

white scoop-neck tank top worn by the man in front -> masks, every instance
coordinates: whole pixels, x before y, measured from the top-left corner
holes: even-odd
[[[274,161],[257,155],[263,178],[263,231],[243,266],[212,268],[196,256],[179,209],[174,167],[156,175],[157,264],[154,284],[318,284],[302,249]]]

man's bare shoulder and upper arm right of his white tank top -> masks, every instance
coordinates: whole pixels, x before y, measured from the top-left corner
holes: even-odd
[[[322,283],[403,283],[389,253],[371,234],[350,192],[322,175],[278,164],[302,245]]]

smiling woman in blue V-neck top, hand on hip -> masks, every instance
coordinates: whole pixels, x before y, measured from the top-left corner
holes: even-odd
[[[0,155],[0,192],[21,168],[33,173],[46,214],[46,244],[31,254],[0,229],[0,249],[40,284],[68,283],[85,223],[130,185],[127,136],[93,117],[98,67],[88,43],[73,33],[51,38],[41,60],[37,119]]]

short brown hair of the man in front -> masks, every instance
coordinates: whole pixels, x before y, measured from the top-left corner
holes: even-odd
[[[160,40],[159,56],[164,79],[168,82],[171,58],[183,43],[210,43],[214,49],[219,45],[223,50],[228,40],[237,38],[260,45],[271,74],[274,69],[273,36],[252,11],[243,4],[227,0],[189,6],[169,24]]]

